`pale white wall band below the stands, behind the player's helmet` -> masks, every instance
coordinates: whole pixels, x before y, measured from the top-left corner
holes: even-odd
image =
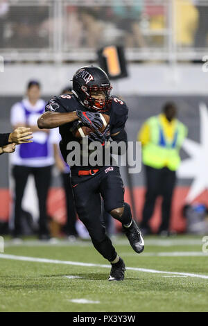
[[[21,96],[28,79],[42,83],[44,96],[57,94],[74,72],[89,63],[64,65],[5,64],[0,72],[0,96]],[[95,64],[96,65],[96,64]],[[113,83],[115,94],[207,94],[207,63],[164,65],[141,62],[128,65],[128,77]]]

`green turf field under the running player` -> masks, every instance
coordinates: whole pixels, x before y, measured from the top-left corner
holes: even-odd
[[[107,281],[110,266],[90,241],[26,240],[14,246],[6,239],[0,255],[0,311],[208,311],[202,237],[146,237],[141,255],[124,237],[112,241],[132,268],[123,282]],[[30,258],[17,260],[24,257]],[[85,301],[73,302],[78,299]]]

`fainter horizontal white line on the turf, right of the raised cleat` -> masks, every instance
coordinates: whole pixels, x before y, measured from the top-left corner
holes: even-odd
[[[137,257],[135,252],[121,252],[122,257]],[[141,257],[208,257],[202,251],[143,252]]]

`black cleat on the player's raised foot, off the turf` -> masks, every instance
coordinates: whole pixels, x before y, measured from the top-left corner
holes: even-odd
[[[144,239],[135,220],[132,219],[132,224],[129,228],[123,226],[123,232],[126,237],[128,237],[128,241],[132,248],[140,254],[144,250]]]

